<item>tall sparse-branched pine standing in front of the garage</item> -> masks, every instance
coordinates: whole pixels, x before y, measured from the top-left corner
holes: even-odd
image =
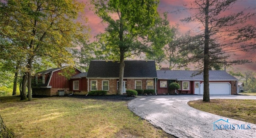
[[[196,49],[190,59],[202,61],[204,72],[203,101],[210,102],[209,95],[209,69],[213,63],[242,64],[247,60],[229,60],[228,53],[243,51],[249,52],[256,49],[256,27],[248,22],[255,18],[253,10],[246,8],[241,12],[232,13],[230,7],[237,0],[194,0],[189,5],[193,10],[192,16],[185,18],[184,22],[199,22],[195,46]],[[225,49],[226,48],[226,49]],[[200,64],[200,63],[199,63]]]

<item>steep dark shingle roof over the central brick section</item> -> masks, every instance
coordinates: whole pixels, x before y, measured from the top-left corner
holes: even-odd
[[[153,60],[125,60],[124,78],[156,78],[156,65]],[[92,60],[87,77],[118,78],[118,61]]]

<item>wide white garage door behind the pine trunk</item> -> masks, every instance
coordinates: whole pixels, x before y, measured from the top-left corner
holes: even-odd
[[[230,95],[231,86],[228,82],[210,82],[210,95]],[[204,83],[200,85],[200,94],[204,94]]]

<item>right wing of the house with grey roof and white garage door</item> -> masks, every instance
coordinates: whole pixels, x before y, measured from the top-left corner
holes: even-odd
[[[177,82],[180,89],[178,94],[204,94],[203,73],[193,70],[157,70],[157,94],[171,93],[168,86]],[[196,75],[198,74],[198,75]],[[224,70],[209,70],[209,89],[211,95],[237,94],[238,79]]]

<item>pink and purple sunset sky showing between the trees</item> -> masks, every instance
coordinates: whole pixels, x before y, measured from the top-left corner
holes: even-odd
[[[89,10],[90,7],[90,0],[78,0],[80,2],[84,2],[86,4],[86,8],[84,11],[85,16],[88,18],[88,25],[90,27],[90,41],[94,41],[94,36],[99,34],[100,32],[104,32],[104,29],[106,28],[106,24],[101,23],[101,19],[94,14],[94,11]],[[185,33],[190,29],[195,28],[198,26],[197,23],[190,23],[190,24],[184,24],[180,22],[180,19],[186,18],[190,15],[188,11],[183,11],[179,13],[174,13],[173,11],[178,9],[183,9],[184,4],[187,4],[191,0],[160,0],[160,3],[158,5],[158,12],[172,12],[168,14],[168,20],[170,22],[170,26],[173,26],[175,24],[180,24],[180,32]],[[239,0],[236,2],[231,10],[232,11],[240,11],[243,10],[246,7],[256,8],[256,0]],[[256,13],[256,10],[252,11]],[[256,26],[256,17],[252,19],[253,24]],[[255,44],[256,42],[254,42]],[[234,65],[232,67],[228,67],[227,70],[233,70],[233,71],[242,71],[246,72],[247,70],[252,70],[253,72],[256,72],[256,50],[251,51],[250,53],[244,53],[244,52],[233,52],[230,53],[230,56],[232,59],[248,59],[252,60],[253,63],[251,64],[243,64],[243,65]],[[168,64],[162,64],[162,67],[168,67]],[[191,67],[191,70],[195,70],[194,67]]]

